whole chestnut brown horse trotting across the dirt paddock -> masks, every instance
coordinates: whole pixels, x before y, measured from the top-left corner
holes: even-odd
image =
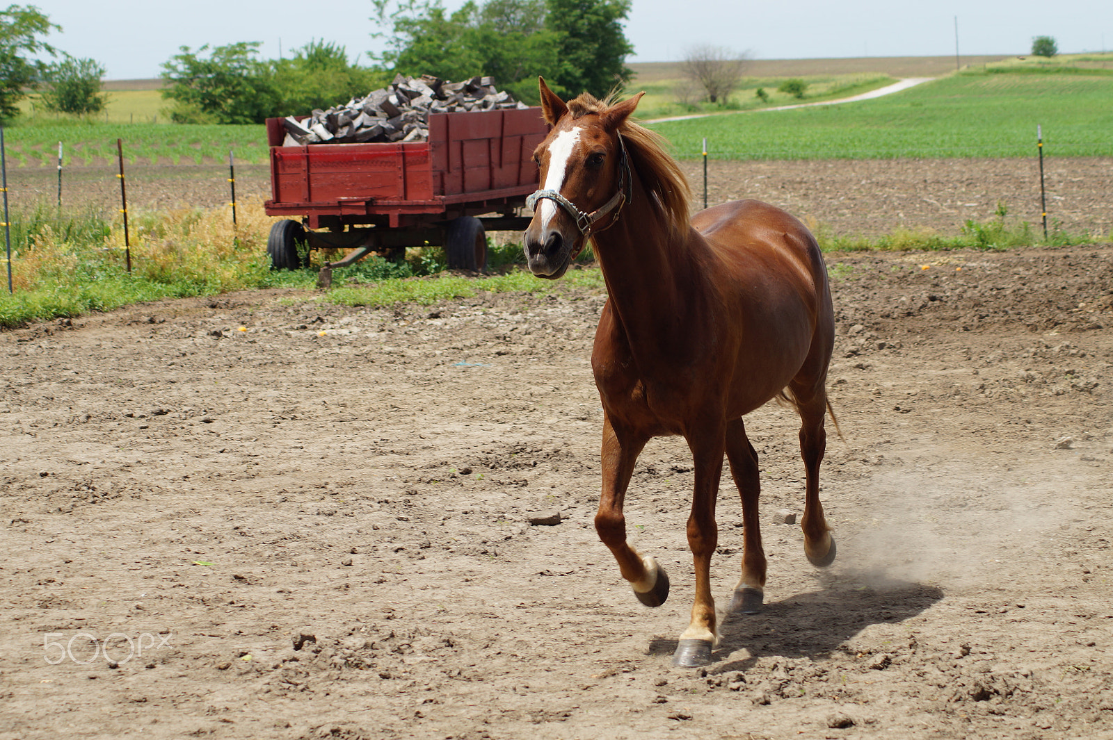
[[[805,553],[817,567],[835,559],[819,502],[835,336],[827,270],[807,228],[767,203],[723,203],[689,222],[683,174],[660,139],[629,120],[641,94],[611,104],[585,93],[565,103],[544,80],[540,87],[552,130],[534,152],[542,189],[529,200],[529,267],[559,278],[590,238],[609,293],[591,357],[603,406],[595,529],[638,599],[663,603],[668,576],[627,542],[622,502],[649,439],[682,434],[696,476],[687,529],[696,599],[673,662],[702,666],[718,640],[710,567],[723,452],[745,527],[730,608],[761,609],[758,458],[742,417],[770,399],[800,414]]]

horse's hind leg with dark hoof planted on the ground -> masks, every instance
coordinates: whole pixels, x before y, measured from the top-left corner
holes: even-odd
[[[765,599],[766,557],[758,517],[761,479],[758,453],[746,437],[746,424],[741,419],[727,424],[727,460],[742,499],[742,577],[735,587],[730,611],[754,614],[761,611]]]

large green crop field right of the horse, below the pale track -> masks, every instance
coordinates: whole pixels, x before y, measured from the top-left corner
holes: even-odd
[[[1113,58],[1113,56],[1109,56]],[[1045,152],[1113,156],[1113,70],[1094,64],[1001,64],[875,100],[754,111],[652,128],[679,158],[701,140],[721,159],[1022,157],[1043,128]]]

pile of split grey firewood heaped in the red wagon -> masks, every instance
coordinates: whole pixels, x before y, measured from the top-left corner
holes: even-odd
[[[436,77],[394,78],[391,87],[346,106],[315,110],[308,118],[285,119],[283,146],[354,143],[373,141],[425,141],[430,113],[528,108],[509,92],[494,87],[492,77],[473,77],[465,82],[446,82]]]

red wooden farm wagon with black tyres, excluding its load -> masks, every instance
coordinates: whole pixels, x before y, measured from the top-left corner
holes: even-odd
[[[267,119],[264,207],[299,219],[272,227],[272,264],[304,266],[306,249],[355,250],[332,268],[433,244],[445,248],[450,267],[481,270],[487,229],[529,226],[518,209],[536,188],[532,156],[546,132],[541,109],[523,108],[432,114],[427,141],[284,147],[283,119]]]

